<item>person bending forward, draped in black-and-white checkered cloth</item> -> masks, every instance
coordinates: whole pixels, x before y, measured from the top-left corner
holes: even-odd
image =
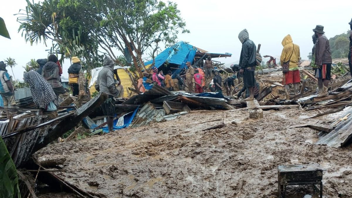
[[[57,98],[49,82],[33,70],[24,73],[23,79],[29,84],[33,102],[39,108],[38,115],[56,118],[58,106]]]

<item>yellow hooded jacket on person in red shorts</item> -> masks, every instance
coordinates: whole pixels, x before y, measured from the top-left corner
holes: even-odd
[[[284,62],[290,61],[289,70],[294,71],[298,70],[298,61],[301,59],[300,47],[292,42],[291,35],[285,36],[281,42],[284,49],[282,49],[280,61],[281,64]],[[293,53],[292,53],[293,50]],[[292,54],[292,56],[291,56]],[[291,56],[291,59],[290,59]]]

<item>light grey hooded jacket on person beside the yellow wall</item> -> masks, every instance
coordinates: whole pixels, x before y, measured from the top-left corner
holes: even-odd
[[[114,79],[114,65],[115,63],[111,60],[111,58],[105,56],[103,61],[104,67],[100,70],[98,80],[95,82],[95,89],[97,91],[108,95],[117,95]]]

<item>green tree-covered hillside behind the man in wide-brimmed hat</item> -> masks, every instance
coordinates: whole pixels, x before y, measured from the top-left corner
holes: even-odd
[[[350,31],[336,35],[329,39],[332,58],[346,58],[350,45]]]

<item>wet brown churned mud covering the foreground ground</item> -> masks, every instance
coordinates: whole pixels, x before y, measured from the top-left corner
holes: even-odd
[[[39,160],[65,158],[60,166],[66,172],[57,175],[101,197],[276,198],[277,166],[307,163],[327,169],[324,198],[352,197],[352,149],[312,144],[318,131],[310,128],[288,129],[316,113],[264,111],[257,120],[240,110],[189,113],[50,145],[36,155]],[[223,128],[202,131],[222,121],[197,124],[223,115]],[[290,198],[315,197],[309,186],[292,186],[288,193]]]

